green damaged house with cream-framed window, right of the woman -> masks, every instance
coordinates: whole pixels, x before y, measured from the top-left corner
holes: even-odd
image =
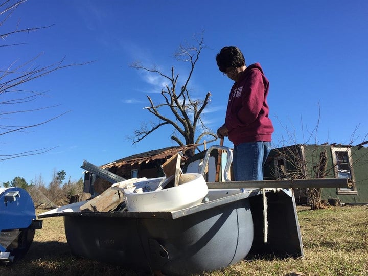
[[[368,202],[368,148],[364,145],[298,144],[273,149],[264,168],[265,179],[350,178],[351,188],[323,188],[321,199],[343,203]],[[307,203],[307,192],[295,190],[295,199]]]

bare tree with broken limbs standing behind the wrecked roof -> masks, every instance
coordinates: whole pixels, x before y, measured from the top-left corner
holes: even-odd
[[[166,75],[155,67],[148,68],[140,63],[131,65],[131,67],[137,70],[157,74],[169,82],[160,91],[160,95],[164,100],[162,103],[155,104],[151,97],[147,95],[149,106],[145,107],[145,109],[156,117],[157,122],[150,125],[144,122],[139,129],[135,130],[133,144],[143,140],[150,133],[165,125],[170,125],[174,128],[171,139],[180,146],[199,144],[205,136],[212,136],[217,139],[216,134],[207,128],[201,119],[203,110],[210,102],[211,93],[208,92],[203,99],[194,99],[189,91],[189,83],[194,68],[199,60],[201,51],[206,48],[203,42],[203,32],[199,39],[194,36],[194,40],[196,45],[181,44],[179,50],[174,54],[177,61],[187,62],[190,66],[189,74],[181,87],[178,87],[179,74],[174,72],[173,66],[171,67],[171,74]],[[167,110],[169,110],[170,117],[165,115]],[[194,149],[186,152],[186,154],[192,156]]]

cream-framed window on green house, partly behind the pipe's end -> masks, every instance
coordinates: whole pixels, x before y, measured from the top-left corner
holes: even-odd
[[[356,195],[357,190],[354,181],[353,160],[350,148],[331,148],[335,178],[350,178],[351,188],[337,188],[338,195]]]

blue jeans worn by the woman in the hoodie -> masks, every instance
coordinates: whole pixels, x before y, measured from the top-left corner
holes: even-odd
[[[236,181],[263,180],[263,165],[271,151],[271,142],[248,142],[234,146],[233,170]]]

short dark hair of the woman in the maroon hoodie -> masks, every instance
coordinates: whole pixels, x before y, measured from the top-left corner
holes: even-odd
[[[225,46],[216,55],[216,62],[221,72],[226,72],[227,68],[237,68],[245,65],[245,59],[238,47]]]

